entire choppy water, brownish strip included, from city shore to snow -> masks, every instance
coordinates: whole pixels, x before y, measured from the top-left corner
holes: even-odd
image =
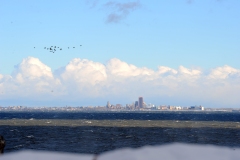
[[[5,152],[37,149],[102,153],[123,147],[141,147],[172,142],[240,147],[239,113],[39,112],[0,113],[0,117],[0,123],[2,123],[0,124],[0,134],[7,142]],[[47,125],[37,125],[46,119]],[[129,125],[121,126],[122,123],[115,124],[114,120],[129,123]],[[3,122],[6,121],[9,122],[3,125]],[[21,123],[13,125],[12,122],[15,121]],[[34,125],[31,123],[24,125],[25,121],[34,122]],[[50,124],[51,121],[55,121],[56,124]],[[88,123],[75,126],[64,125],[67,122],[71,124],[78,121]],[[147,126],[152,122],[161,125]],[[92,125],[94,123],[96,125]],[[103,125],[104,123],[108,125]],[[138,125],[130,125],[134,123]],[[172,125],[169,125],[171,123]],[[209,125],[213,123],[218,126],[211,127]],[[203,126],[198,127],[200,124]],[[230,125],[233,126],[228,127]]]

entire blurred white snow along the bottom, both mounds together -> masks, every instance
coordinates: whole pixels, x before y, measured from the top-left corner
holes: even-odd
[[[138,149],[125,148],[95,156],[91,154],[70,154],[46,151],[20,151],[1,156],[1,160],[239,160],[240,148],[212,145],[169,144],[145,146]]]

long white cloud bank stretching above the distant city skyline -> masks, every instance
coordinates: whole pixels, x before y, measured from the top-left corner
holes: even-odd
[[[143,96],[156,105],[239,107],[239,95],[240,70],[228,65],[208,71],[184,66],[152,70],[117,58],[106,64],[75,58],[52,71],[38,58],[27,57],[11,75],[0,74],[0,103],[126,104]]]

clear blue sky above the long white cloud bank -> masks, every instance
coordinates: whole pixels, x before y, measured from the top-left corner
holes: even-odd
[[[239,7],[238,0],[2,1],[0,74],[14,78],[27,57],[53,73],[74,58],[102,65],[115,58],[154,71],[239,70]],[[55,45],[62,51],[44,49]]]

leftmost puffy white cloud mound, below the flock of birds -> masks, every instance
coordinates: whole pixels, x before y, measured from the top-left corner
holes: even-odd
[[[12,75],[3,78],[1,90],[10,99],[38,99],[39,95],[47,98],[56,85],[60,85],[60,81],[54,79],[50,67],[37,58],[27,57],[15,66]]]

